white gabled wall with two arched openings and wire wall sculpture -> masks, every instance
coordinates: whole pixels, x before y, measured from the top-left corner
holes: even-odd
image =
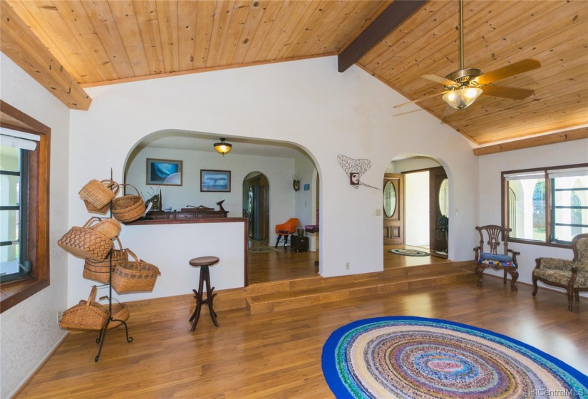
[[[125,158],[135,143],[149,133],[167,129],[295,142],[308,152],[321,173],[323,276],[383,269],[382,218],[372,216],[373,209],[381,209],[382,192],[351,187],[337,155],[371,160],[371,169],[361,181],[374,187],[381,186],[389,160],[401,153],[434,157],[448,170],[453,181],[450,187],[458,194],[477,187],[472,171],[477,170],[478,161],[461,135],[425,113],[418,118],[393,117],[393,105],[405,99],[360,68],[336,72],[336,57],[120,83],[87,91],[93,98],[92,107],[86,112],[73,111],[71,117],[69,215],[73,224],[84,222],[87,216],[77,197],[78,187],[92,178],[108,176],[110,167],[115,180],[120,179]],[[291,180],[288,172],[286,179],[270,181],[270,187],[282,184],[284,190],[292,190]],[[455,220],[454,237],[450,237],[450,243],[455,243],[470,237],[476,209],[469,196],[452,197],[460,208],[460,220]],[[276,204],[272,201],[272,207]],[[291,207],[292,202],[284,204],[279,219],[294,213]],[[460,247],[450,248],[450,253],[457,260],[470,257],[469,250]],[[351,264],[349,271],[345,270],[346,262]],[[82,283],[72,279],[70,289]],[[72,294],[69,297],[70,301],[77,299]]]

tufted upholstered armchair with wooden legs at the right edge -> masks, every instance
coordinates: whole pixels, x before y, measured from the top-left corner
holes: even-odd
[[[572,239],[574,259],[535,259],[533,269],[533,296],[537,294],[537,281],[550,286],[559,286],[567,291],[567,309],[572,311],[574,295],[579,303],[579,291],[588,291],[588,234],[579,234]]]

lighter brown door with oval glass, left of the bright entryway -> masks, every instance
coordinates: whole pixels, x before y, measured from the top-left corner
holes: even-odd
[[[386,173],[383,182],[384,245],[404,244],[404,175]]]

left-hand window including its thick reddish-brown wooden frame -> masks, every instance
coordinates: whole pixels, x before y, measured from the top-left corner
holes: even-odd
[[[6,257],[2,260],[11,258],[16,261],[18,268],[11,279],[0,280],[0,311],[4,312],[49,285],[48,192],[51,130],[2,100],[0,127],[16,132],[14,136],[18,136],[19,133],[24,133],[25,136],[31,133],[36,137],[35,141],[38,139],[34,150],[21,152],[19,149],[18,170],[14,167],[3,167],[4,172],[0,176],[11,177],[6,178],[4,182],[14,185],[11,187],[11,194],[16,195],[14,200],[6,199],[6,203],[1,205],[8,207],[2,208],[1,211],[3,220],[0,224],[6,227],[6,234],[3,233],[2,239],[4,242],[10,242],[10,245],[3,247],[12,247],[6,254],[2,254]],[[4,191],[4,182],[3,195],[8,192]],[[22,199],[25,195],[26,202]],[[18,211],[16,208],[13,209],[14,207],[18,207]],[[18,217],[16,213],[19,214]]]

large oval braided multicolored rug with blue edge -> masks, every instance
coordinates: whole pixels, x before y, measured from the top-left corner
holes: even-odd
[[[532,346],[435,318],[368,318],[331,334],[336,398],[588,398],[588,376]]]

